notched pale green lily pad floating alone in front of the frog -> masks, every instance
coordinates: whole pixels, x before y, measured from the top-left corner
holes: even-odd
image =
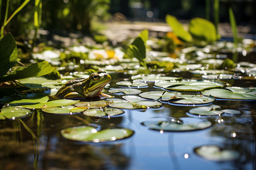
[[[134,134],[130,129],[104,129],[97,131],[91,126],[75,126],[60,131],[61,135],[72,141],[108,142],[129,138]]]

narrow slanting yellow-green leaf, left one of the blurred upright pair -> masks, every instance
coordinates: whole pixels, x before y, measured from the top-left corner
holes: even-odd
[[[189,32],[185,31],[183,25],[177,20],[175,16],[166,15],[166,23],[170,25],[172,31],[177,37],[184,41],[192,41],[192,36]]]

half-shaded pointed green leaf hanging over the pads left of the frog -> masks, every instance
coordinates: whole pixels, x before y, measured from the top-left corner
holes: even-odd
[[[47,61],[34,63],[28,67],[18,67],[15,71],[0,78],[0,82],[7,82],[10,80],[18,80],[29,78],[33,76],[42,76],[51,73],[55,67],[49,65]]]

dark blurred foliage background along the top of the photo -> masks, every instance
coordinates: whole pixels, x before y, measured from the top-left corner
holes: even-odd
[[[5,14],[6,1],[2,0],[1,25]],[[9,15],[24,0],[10,1]],[[213,0],[42,0],[42,25],[44,29],[92,32],[92,24],[106,20],[129,20],[164,22],[167,14],[177,19],[205,18],[205,6]],[[228,7],[232,7],[237,24],[256,25],[256,0],[220,0],[220,22],[229,22]],[[35,1],[30,1],[5,28],[15,38],[26,39],[34,29]],[[212,9],[209,19],[213,20]]]

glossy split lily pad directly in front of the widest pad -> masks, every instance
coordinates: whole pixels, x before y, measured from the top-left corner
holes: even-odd
[[[203,95],[180,95],[179,99],[169,100],[169,104],[173,105],[205,105],[212,103],[215,98],[213,96]]]

